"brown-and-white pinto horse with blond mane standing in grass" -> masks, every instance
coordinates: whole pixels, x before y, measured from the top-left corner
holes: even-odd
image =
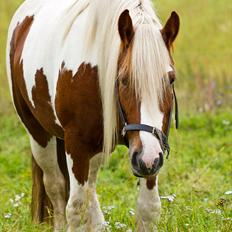
[[[160,217],[158,173],[175,102],[173,42],[150,0],[27,0],[9,26],[7,74],[32,151],[32,218],[101,231],[97,173],[115,145],[140,180],[138,231]],[[48,210],[49,209],[49,210]]]

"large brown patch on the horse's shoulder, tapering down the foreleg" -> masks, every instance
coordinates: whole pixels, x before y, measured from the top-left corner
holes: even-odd
[[[55,99],[57,116],[64,128],[65,149],[73,160],[80,184],[88,180],[89,161],[101,152],[103,117],[97,67],[82,63],[73,74],[63,64]]]

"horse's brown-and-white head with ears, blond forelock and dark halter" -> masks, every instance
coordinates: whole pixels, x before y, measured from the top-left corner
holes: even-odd
[[[139,24],[139,25],[138,25]],[[154,176],[163,165],[173,106],[175,70],[170,54],[179,31],[173,12],[163,29],[155,22],[133,25],[129,11],[118,22],[121,49],[116,98],[133,173]]]

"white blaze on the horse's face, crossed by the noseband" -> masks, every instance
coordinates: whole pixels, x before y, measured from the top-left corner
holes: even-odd
[[[141,124],[153,126],[162,130],[163,126],[163,113],[159,109],[158,101],[154,99],[152,110],[142,101],[141,103]],[[159,153],[162,152],[158,139],[151,133],[140,131],[140,139],[143,145],[142,160],[147,168],[152,168],[154,160],[159,158]]]

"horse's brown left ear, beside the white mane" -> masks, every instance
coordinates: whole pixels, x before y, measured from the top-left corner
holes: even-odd
[[[129,10],[125,10],[119,17],[118,31],[125,47],[128,47],[134,37],[133,23],[129,14]]]

